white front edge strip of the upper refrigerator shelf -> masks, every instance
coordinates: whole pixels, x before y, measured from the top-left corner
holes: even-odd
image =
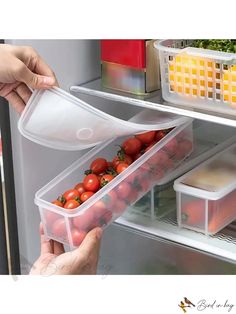
[[[230,119],[230,118],[220,117],[213,114],[207,114],[207,113],[202,113],[198,111],[182,109],[182,108],[174,107],[173,105],[168,106],[165,104],[152,102],[147,99],[146,100],[138,99],[138,98],[136,99],[136,98],[128,97],[125,95],[119,95],[119,94],[110,93],[107,91],[91,89],[89,87],[86,87],[86,84],[80,85],[80,86],[71,86],[70,91],[75,92],[75,93],[76,92],[83,93],[83,94],[91,95],[91,96],[97,96],[97,97],[101,97],[101,98],[105,98],[105,99],[109,99],[113,101],[124,102],[130,105],[145,107],[145,108],[153,109],[153,110],[159,110],[162,112],[169,112],[172,114],[186,116],[189,118],[209,121],[209,122],[223,124],[223,125],[227,125],[231,127],[236,127],[236,118]],[[162,101],[160,100],[160,102]]]

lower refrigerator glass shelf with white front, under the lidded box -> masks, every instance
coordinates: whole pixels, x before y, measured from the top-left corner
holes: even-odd
[[[156,220],[126,212],[114,223],[131,232],[187,246],[190,249],[201,251],[204,254],[215,256],[236,265],[236,222],[233,222],[219,233],[211,236],[179,228],[175,211],[171,212],[165,218]]]

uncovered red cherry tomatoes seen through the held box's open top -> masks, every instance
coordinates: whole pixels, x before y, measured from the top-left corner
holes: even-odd
[[[118,174],[126,170],[129,165],[160,141],[168,131],[149,131],[128,138],[120,146],[112,161],[96,158],[91,163],[90,169],[85,171],[83,182],[64,192],[52,203],[67,210],[77,208]]]

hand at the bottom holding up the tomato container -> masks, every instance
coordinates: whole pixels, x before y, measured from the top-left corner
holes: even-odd
[[[40,224],[41,254],[30,275],[95,275],[100,250],[102,229],[91,230],[79,248],[65,253],[61,243],[46,240]]]

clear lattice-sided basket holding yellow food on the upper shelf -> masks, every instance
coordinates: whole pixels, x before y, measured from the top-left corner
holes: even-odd
[[[188,47],[187,40],[155,42],[163,98],[171,103],[236,114],[236,54]]]

